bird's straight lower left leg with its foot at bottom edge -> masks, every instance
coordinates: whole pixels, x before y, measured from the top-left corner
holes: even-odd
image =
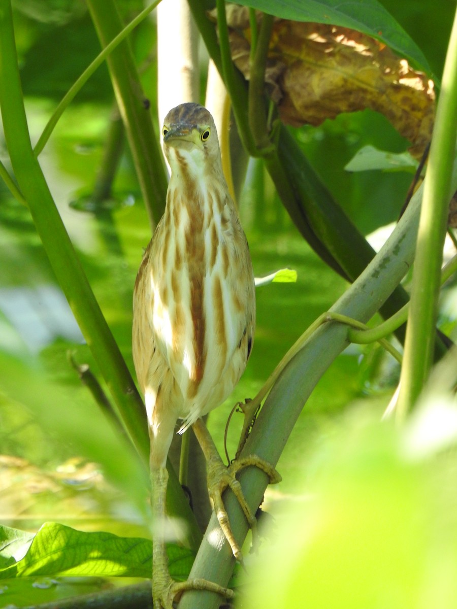
[[[234,593],[217,583],[204,579],[188,579],[175,582],[168,571],[165,546],[165,500],[168,483],[166,468],[151,468],[152,510],[154,515],[154,540],[152,543],[152,601],[154,609],[173,609],[173,600],[179,599],[185,590],[209,590],[232,599]]]

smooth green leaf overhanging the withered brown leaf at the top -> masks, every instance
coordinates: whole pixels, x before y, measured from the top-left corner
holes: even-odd
[[[381,40],[416,68],[431,73],[423,52],[377,0],[240,0],[238,4],[293,21],[349,27]]]

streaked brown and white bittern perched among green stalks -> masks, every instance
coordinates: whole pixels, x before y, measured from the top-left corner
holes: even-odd
[[[243,228],[222,173],[213,117],[199,104],[169,111],[163,147],[171,167],[165,214],[141,262],[133,295],[133,361],[146,403],[151,438],[152,509],[165,518],[165,469],[177,420],[193,426],[208,462],[208,487],[236,558],[221,493],[237,489],[236,466],[225,468],[200,417],[219,406],[246,367],[255,327],[252,262]],[[266,463],[253,460],[272,479]],[[244,461],[246,465],[246,460]],[[251,525],[255,518],[238,496]],[[174,582],[163,533],[153,539],[154,608],[172,608],[186,588],[230,591],[205,580]]]

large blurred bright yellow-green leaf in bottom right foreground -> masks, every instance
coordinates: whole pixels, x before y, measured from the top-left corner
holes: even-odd
[[[455,398],[402,430],[370,408],[335,422],[303,463],[303,501],[276,522],[246,606],[455,607]]]

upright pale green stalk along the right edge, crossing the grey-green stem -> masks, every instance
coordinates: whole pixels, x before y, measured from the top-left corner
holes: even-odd
[[[416,403],[433,361],[434,327],[438,315],[440,269],[452,196],[451,175],[457,135],[457,10],[448,45],[441,93],[424,180],[417,236],[411,307],[406,328],[405,357],[400,375],[397,414]]]

